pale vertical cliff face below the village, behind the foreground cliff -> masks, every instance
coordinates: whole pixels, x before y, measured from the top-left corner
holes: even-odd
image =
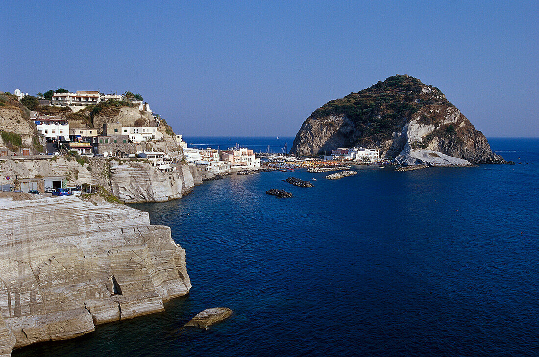
[[[142,161],[110,162],[112,193],[126,203],[164,202],[182,198],[185,177],[188,176],[183,170],[181,173],[161,173],[150,163]]]

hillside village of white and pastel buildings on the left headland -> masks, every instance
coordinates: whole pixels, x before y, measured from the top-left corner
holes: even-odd
[[[140,94],[64,89],[48,94],[33,97],[18,88],[13,94],[0,92],[0,163],[73,157],[88,162],[91,170],[95,160],[142,160],[164,176],[187,165],[202,180],[260,168],[260,159],[246,148],[188,148]],[[10,168],[2,170],[2,190],[50,192],[73,186],[70,177],[32,176]]]

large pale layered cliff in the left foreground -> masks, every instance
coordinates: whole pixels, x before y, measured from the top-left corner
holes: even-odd
[[[191,289],[185,250],[147,212],[9,193],[0,214],[0,355],[163,311]]]

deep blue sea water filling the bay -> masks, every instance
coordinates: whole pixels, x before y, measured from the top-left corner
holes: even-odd
[[[186,249],[189,296],[13,356],[537,355],[539,140],[490,143],[529,164],[233,175],[134,205]],[[182,330],[217,306],[236,314]]]

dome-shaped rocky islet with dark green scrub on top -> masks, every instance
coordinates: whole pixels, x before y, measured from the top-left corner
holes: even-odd
[[[291,153],[363,146],[380,148],[392,159],[407,145],[411,152],[427,149],[472,163],[505,162],[438,88],[408,75],[389,77],[316,109],[303,122]]]

